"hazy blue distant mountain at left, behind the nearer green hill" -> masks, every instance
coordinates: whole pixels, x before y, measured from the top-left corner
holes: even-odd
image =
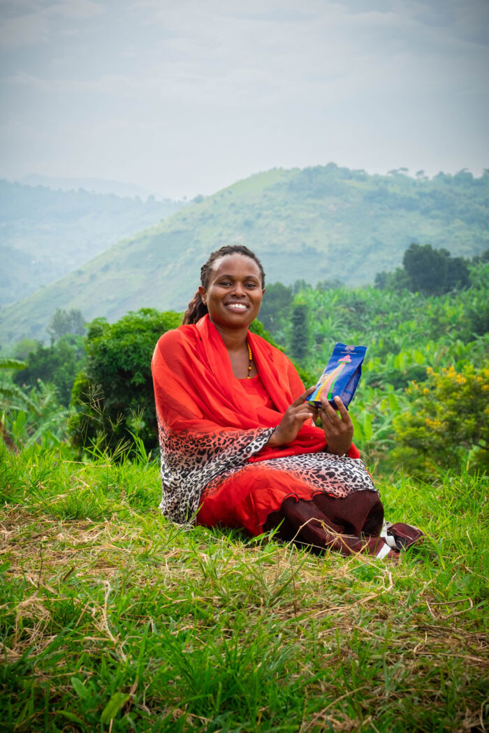
[[[26,298],[182,206],[0,181],[0,305]]]

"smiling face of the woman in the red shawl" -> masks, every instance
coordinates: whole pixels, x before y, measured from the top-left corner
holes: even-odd
[[[243,254],[217,259],[207,288],[199,287],[210,320],[227,328],[247,328],[260,311],[264,292],[257,263]]]

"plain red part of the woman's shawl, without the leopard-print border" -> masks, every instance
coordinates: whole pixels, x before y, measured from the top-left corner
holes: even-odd
[[[196,325],[183,325],[163,334],[152,359],[158,419],[172,432],[210,433],[276,427],[289,405],[304,392],[301,378],[281,351],[248,333],[254,364],[276,410],[251,404],[232,373],[227,348],[208,315]],[[224,437],[224,436],[223,436]],[[304,424],[292,443],[268,448],[249,460],[320,452],[324,432]],[[358,458],[351,446],[348,455]]]

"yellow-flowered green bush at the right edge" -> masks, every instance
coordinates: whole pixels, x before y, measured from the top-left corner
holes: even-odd
[[[424,383],[408,388],[411,410],[394,419],[400,445],[394,457],[414,470],[422,457],[430,471],[461,463],[488,471],[489,361],[439,372],[428,367],[427,375]]]

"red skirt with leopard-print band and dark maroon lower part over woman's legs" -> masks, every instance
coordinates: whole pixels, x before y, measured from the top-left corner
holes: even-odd
[[[325,452],[247,463],[213,479],[196,523],[243,527],[343,554],[377,554],[383,506],[359,459]]]

